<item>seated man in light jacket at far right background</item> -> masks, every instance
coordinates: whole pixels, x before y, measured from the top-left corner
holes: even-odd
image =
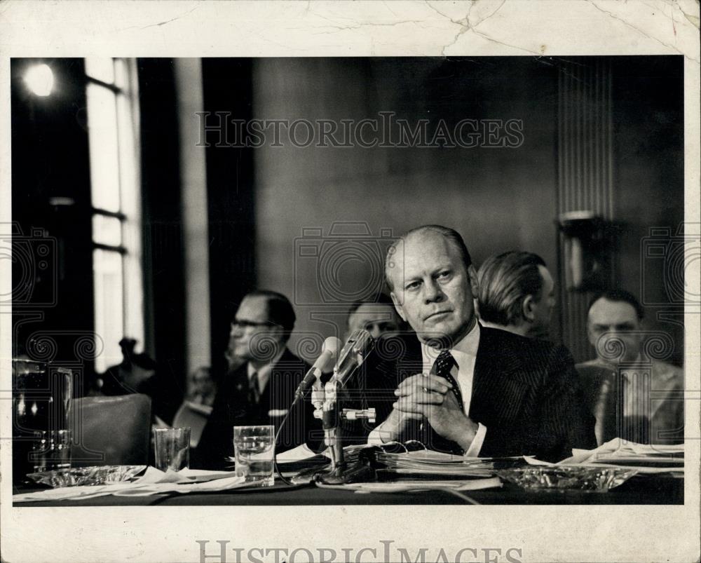
[[[608,290],[590,303],[587,334],[597,358],[577,369],[599,444],[614,437],[683,442],[683,370],[648,357],[643,320],[643,307],[624,290]]]

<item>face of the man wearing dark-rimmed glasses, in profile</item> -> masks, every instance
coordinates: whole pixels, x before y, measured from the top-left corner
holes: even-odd
[[[282,330],[268,321],[268,304],[259,295],[243,298],[231,322],[229,346],[234,355],[245,360],[258,360],[266,354],[263,348],[271,339],[281,342]]]

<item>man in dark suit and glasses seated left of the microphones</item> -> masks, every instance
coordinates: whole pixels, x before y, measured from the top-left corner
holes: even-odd
[[[196,465],[233,466],[233,426],[273,425],[275,431],[294,400],[309,365],[287,349],[294,309],[282,294],[255,291],[241,301],[231,322],[232,353],[243,360],[221,382],[197,446]],[[318,428],[316,428],[318,427]],[[308,401],[299,402],[278,438],[278,452],[304,444],[321,424]]]

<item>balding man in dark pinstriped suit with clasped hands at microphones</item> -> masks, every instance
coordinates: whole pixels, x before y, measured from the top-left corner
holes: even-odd
[[[418,341],[372,370],[379,385],[396,388],[369,442],[414,439],[466,456],[546,461],[596,446],[569,351],[477,323],[477,275],[456,231],[409,231],[390,248],[386,276]]]

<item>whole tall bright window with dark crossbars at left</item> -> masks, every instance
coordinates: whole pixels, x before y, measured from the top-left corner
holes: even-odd
[[[97,372],[121,362],[119,341],[144,341],[136,60],[88,57]]]

